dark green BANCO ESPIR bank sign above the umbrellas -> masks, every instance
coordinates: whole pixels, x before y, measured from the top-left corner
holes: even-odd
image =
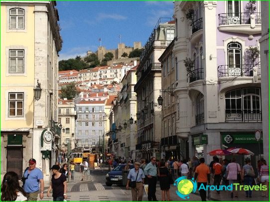
[[[263,138],[259,141],[263,143]],[[223,144],[250,144],[258,143],[255,138],[255,134],[222,134],[222,143]]]

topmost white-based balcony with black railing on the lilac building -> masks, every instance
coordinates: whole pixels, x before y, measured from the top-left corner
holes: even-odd
[[[262,32],[261,13],[249,12],[238,13],[220,13],[219,15],[220,31],[228,31],[242,34],[260,34]]]

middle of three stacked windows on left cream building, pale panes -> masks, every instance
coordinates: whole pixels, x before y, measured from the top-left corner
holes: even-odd
[[[24,50],[9,50],[9,73],[24,72]]]

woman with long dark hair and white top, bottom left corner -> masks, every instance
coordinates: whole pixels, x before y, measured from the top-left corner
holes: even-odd
[[[27,201],[26,193],[19,185],[19,177],[13,172],[7,172],[1,184],[1,202],[24,202]]]

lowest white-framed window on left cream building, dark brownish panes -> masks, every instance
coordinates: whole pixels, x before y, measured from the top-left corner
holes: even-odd
[[[23,116],[23,93],[8,94],[8,116],[9,117]]]

